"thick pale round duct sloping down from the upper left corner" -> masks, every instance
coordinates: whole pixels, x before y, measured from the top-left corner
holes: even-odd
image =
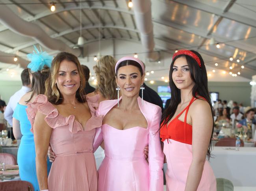
[[[19,35],[32,37],[48,49],[67,51],[76,56],[81,54],[80,49],[72,49],[61,40],[50,38],[39,25],[23,20],[6,5],[0,6],[0,22]]]

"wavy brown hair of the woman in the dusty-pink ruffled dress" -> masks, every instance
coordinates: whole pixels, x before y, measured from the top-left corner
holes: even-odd
[[[80,76],[80,87],[76,91],[76,98],[79,102],[86,102],[85,92],[83,90],[85,87],[85,77],[83,75],[80,62],[75,55],[67,52],[58,53],[58,55],[56,55],[52,60],[50,76],[45,82],[45,95],[47,96],[48,101],[57,105],[63,102],[63,96],[61,95],[58,86],[55,84],[58,76],[59,65],[63,60],[68,60],[76,64]]]

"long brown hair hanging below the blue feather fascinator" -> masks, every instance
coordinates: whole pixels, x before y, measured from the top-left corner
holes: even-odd
[[[45,94],[45,82],[50,75],[50,68],[44,67],[41,71],[33,72],[29,69],[32,75],[31,91],[32,94],[26,103],[30,102],[34,95]]]

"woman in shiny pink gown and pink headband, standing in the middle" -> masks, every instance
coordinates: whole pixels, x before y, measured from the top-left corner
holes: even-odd
[[[96,111],[104,120],[97,129],[94,149],[102,140],[105,145],[105,158],[98,169],[98,191],[163,191],[161,108],[142,103],[139,97],[145,76],[139,59],[121,58],[115,71],[122,98],[102,101]],[[148,162],[144,156],[147,145]]]

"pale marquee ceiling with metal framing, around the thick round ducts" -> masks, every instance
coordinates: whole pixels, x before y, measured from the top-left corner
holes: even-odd
[[[39,25],[51,38],[61,40],[69,47],[76,46],[80,27],[79,1],[55,0],[55,12],[50,11],[49,2],[50,0],[0,0],[0,6],[7,6],[23,20]],[[251,76],[256,74],[255,0],[152,0],[151,3],[154,50],[169,55],[170,58],[176,49],[194,49],[202,54],[208,73],[212,73],[213,68],[227,73],[240,71],[243,78],[236,77],[235,81],[250,81]],[[134,10],[128,8],[127,4],[127,0],[82,1],[82,36],[85,38],[83,47],[97,41],[99,34],[105,40],[121,39],[141,44]],[[219,49],[215,44],[210,45],[211,38],[220,44]],[[20,62],[21,66],[28,63],[26,54],[32,52],[32,45],[38,45],[37,42],[35,38],[20,35],[0,22],[0,56],[6,58],[6,62],[0,63],[0,80],[6,80],[11,72],[19,74],[22,69],[17,63]],[[58,50],[46,47],[43,50],[52,55],[58,53]],[[120,55],[115,56],[121,57],[132,52],[132,49],[124,49]],[[143,49],[138,53],[143,54]],[[17,63],[12,60],[15,55],[19,58]],[[84,56],[93,58],[94,55]],[[233,62],[229,60],[230,56],[234,57]],[[240,59],[239,63],[236,62],[237,59]],[[216,62],[217,67],[214,65]],[[245,68],[241,69],[241,65]],[[230,70],[230,66],[234,69]],[[7,67],[10,68],[8,72]],[[154,66],[149,65],[147,68],[150,71]],[[150,74],[148,78],[157,80],[162,76],[161,73],[159,69],[159,72]],[[215,77],[219,80],[221,75]],[[213,76],[209,76],[209,80],[211,78]],[[228,78],[235,79],[232,76]],[[19,77],[13,76],[12,79],[18,80]]]

